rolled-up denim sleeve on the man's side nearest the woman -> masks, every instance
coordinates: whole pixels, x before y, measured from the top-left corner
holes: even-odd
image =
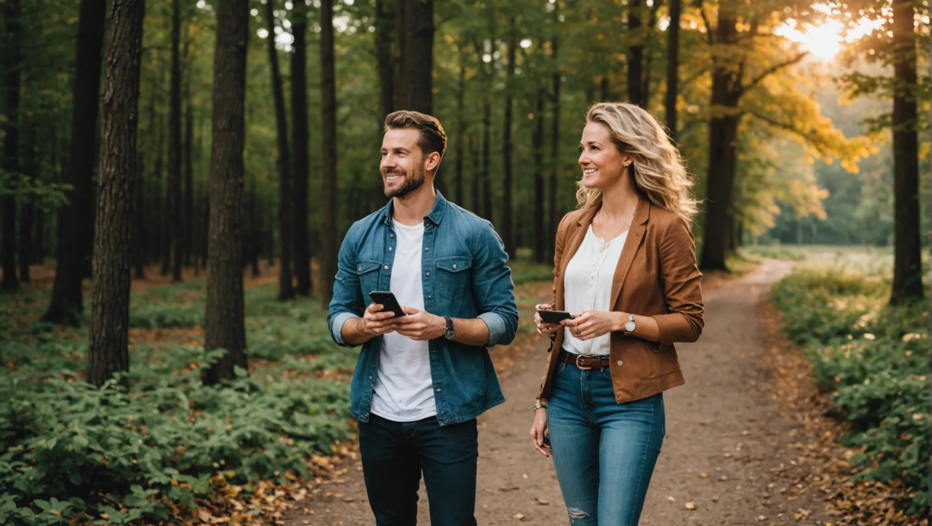
[[[479,318],[488,327],[488,344],[506,345],[518,330],[512,269],[501,238],[490,223],[483,226],[473,246],[473,297]]]

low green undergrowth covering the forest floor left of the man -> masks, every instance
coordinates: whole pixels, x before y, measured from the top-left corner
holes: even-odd
[[[250,290],[247,352],[277,361],[219,386],[204,386],[200,374],[225,351],[133,344],[128,390],[81,381],[86,330],[21,321],[41,312],[44,295],[0,299],[0,524],[102,513],[114,524],[176,523],[174,505],[211,497],[215,476],[247,486],[283,482],[288,471],[308,477],[308,454],[349,437],[349,384],[318,372],[346,372],[356,355],[324,341],[317,302],[279,303],[272,290]],[[171,320],[160,313],[176,302],[203,312],[203,285],[135,295],[137,325],[165,327]]]

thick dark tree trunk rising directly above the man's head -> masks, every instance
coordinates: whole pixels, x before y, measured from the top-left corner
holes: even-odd
[[[395,107],[433,112],[433,0],[397,0],[398,83]]]

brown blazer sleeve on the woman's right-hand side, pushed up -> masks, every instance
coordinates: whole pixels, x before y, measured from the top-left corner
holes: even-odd
[[[689,223],[676,218],[666,225],[660,240],[666,314],[657,315],[660,344],[695,342],[705,326],[702,273],[696,265],[695,240]]]

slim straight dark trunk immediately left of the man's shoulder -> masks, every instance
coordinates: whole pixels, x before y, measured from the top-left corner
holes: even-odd
[[[400,0],[400,2],[403,0]],[[336,277],[336,73],[334,0],[321,4],[321,308],[330,305]]]

